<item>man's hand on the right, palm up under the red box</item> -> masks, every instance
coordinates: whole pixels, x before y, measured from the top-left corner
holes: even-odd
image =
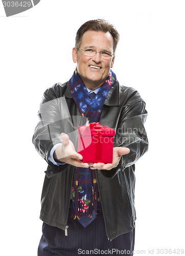
[[[126,155],[130,152],[128,147],[114,147],[113,148],[113,162],[112,163],[94,163],[90,168],[91,169],[103,169],[103,170],[111,170],[115,168],[121,156]]]

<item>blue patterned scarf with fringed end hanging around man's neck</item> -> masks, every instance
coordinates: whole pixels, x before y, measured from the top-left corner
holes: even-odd
[[[104,101],[115,82],[116,75],[111,70],[97,95],[91,99],[82,78],[77,73],[77,69],[74,71],[73,76],[69,80],[69,88],[78,110],[82,116],[88,118],[89,123],[98,122]],[[72,186],[71,217],[74,219],[80,219],[81,216],[92,218],[92,212],[96,214],[100,209],[95,170],[75,167]]]

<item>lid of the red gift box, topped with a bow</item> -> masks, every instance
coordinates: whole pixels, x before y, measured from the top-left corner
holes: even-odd
[[[88,126],[78,126],[78,133],[81,136],[94,136],[94,135],[102,135],[102,136],[115,136],[115,130],[108,127],[102,126],[99,122],[90,123]]]

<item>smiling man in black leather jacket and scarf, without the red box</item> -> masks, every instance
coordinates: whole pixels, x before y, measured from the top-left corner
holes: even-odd
[[[47,161],[42,190],[43,235],[38,255],[132,255],[135,162],[147,151],[145,102],[111,70],[119,34],[104,20],[78,29],[70,80],[43,95],[33,143]],[[112,163],[84,163],[77,126],[115,129]],[[90,252],[90,250],[92,250]]]

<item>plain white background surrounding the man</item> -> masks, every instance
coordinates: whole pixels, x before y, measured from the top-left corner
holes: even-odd
[[[113,71],[140,92],[149,113],[149,152],[136,164],[136,254],[184,248],[184,7],[184,1],[41,0],[6,17],[0,3],[1,255],[37,255],[47,167],[32,144],[37,111],[43,92],[71,77],[75,33],[95,18],[119,31]]]

